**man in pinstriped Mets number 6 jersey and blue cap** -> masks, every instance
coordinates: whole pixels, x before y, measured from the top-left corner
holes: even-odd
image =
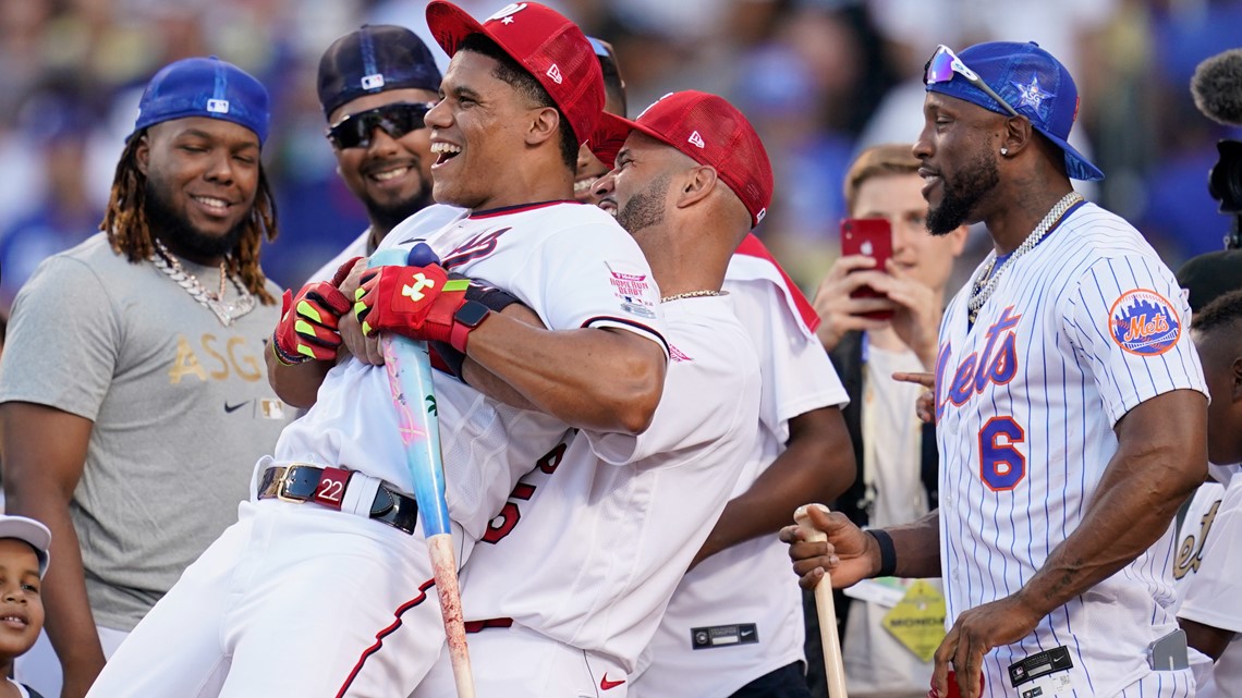
[[[984,222],[995,247],[940,325],[940,508],[867,533],[815,512],[830,545],[795,545],[818,555],[795,570],[943,574],[940,696],[950,667],[964,698],[1194,696],[1169,525],[1207,462],[1190,309],[1138,231],[1073,191],[1103,174],[1066,143],[1056,58],[941,46],[925,81],[928,229]]]

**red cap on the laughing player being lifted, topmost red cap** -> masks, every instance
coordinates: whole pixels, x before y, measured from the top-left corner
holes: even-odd
[[[538,2],[510,2],[479,24],[445,0],[427,5],[427,26],[448,56],[472,34],[482,34],[548,91],[586,143],[604,113],[604,72],[595,48],[574,22]]]

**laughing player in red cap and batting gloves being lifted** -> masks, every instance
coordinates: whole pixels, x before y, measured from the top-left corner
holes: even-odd
[[[380,242],[421,266],[355,267],[339,288],[315,287],[318,309],[298,303],[302,319],[282,320],[293,332],[278,330],[288,342],[272,344],[273,370],[317,380],[314,405],[256,465],[237,525],[135,628],[93,696],[401,697],[435,662],[445,636],[401,422],[361,338],[334,355],[349,323],[435,342],[469,381],[435,378],[460,561],[474,540],[503,537],[493,518],[517,478],[555,469],[571,427],[602,445],[652,420],[667,364],[660,292],[635,241],[573,201],[578,148],[604,106],[590,43],[535,2],[481,24],[437,1],[427,19],[453,56],[424,117],[432,194],[462,211],[441,225],[442,206],[424,209]],[[508,291],[550,329],[496,312],[491,292],[448,272]]]

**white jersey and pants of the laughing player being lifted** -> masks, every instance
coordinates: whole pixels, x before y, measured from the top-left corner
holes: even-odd
[[[604,211],[550,202],[461,212],[448,226],[441,214],[425,209],[384,246],[427,238],[447,268],[508,289],[546,327],[621,328],[664,347],[660,291],[642,251]],[[452,378],[433,380],[446,498],[465,561],[518,476],[566,426]],[[356,471],[342,510],[243,502],[238,522],[108,662],[92,697],[405,696],[417,686],[443,645],[440,606],[427,602],[435,590],[426,545],[421,530],[410,535],[366,515],[380,479],[412,491],[390,390],[384,366],[350,358],[328,373],[315,405],[281,435],[276,462]],[[270,465],[265,458],[256,471]],[[279,671],[272,647],[289,659]]]

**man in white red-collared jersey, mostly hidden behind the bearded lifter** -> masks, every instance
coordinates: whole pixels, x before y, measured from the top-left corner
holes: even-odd
[[[605,112],[625,116],[615,58],[607,45],[596,43],[596,53],[609,87]],[[595,180],[612,169],[626,135],[592,139],[606,164],[582,148],[579,200],[609,194],[597,193]],[[607,206],[615,210],[615,201]],[[760,447],[745,458],[732,499],[643,650],[632,698],[811,696],[802,596],[785,579],[785,545],[773,534],[807,499],[828,502],[850,486],[853,451],[838,407],[848,395],[815,334],[815,308],[754,233],[729,261],[722,289],[759,355]]]

